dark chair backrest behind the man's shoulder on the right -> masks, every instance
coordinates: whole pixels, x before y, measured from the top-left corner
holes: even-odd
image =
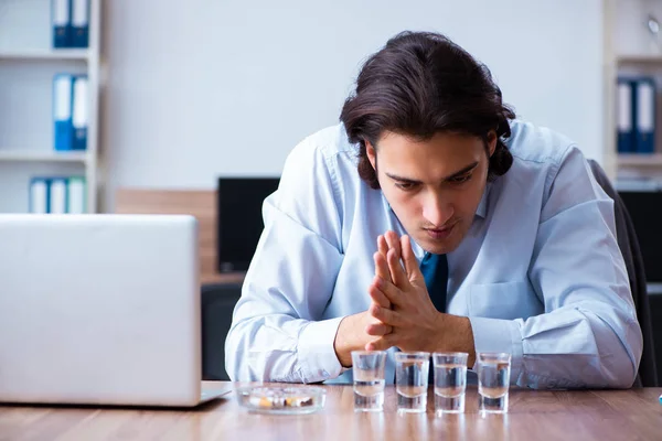
[[[655,347],[653,344],[653,326],[651,320],[651,305],[647,290],[647,279],[643,267],[643,258],[639,248],[637,232],[626,205],[616,189],[611,185],[605,170],[594,160],[588,160],[597,183],[605,193],[613,200],[616,216],[616,233],[618,246],[623,255],[632,300],[637,309],[637,319],[643,334],[643,352],[639,364],[636,386],[656,387],[658,373],[655,368]]]

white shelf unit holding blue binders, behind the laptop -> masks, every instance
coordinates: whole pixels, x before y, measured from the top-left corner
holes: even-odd
[[[29,209],[32,176],[83,175],[88,213],[99,209],[102,0],[89,0],[86,49],[53,49],[51,0],[0,0],[0,213]],[[53,149],[52,79],[86,74],[87,149]]]

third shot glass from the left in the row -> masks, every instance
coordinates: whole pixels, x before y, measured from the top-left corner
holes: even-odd
[[[465,352],[436,352],[435,411],[437,413],[462,413],[467,391],[467,357]]]

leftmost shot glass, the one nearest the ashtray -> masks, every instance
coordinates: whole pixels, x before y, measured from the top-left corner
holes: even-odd
[[[380,412],[384,410],[385,351],[353,351],[354,411]]]

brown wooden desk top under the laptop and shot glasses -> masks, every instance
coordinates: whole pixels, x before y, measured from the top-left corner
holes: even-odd
[[[213,385],[213,383],[211,383]],[[662,388],[595,391],[511,390],[510,412],[481,416],[477,389],[463,415],[398,415],[386,387],[382,413],[354,413],[351,386],[324,386],[324,409],[309,416],[253,415],[234,396],[196,410],[0,406],[2,440],[659,440]],[[428,394],[431,409],[431,394]]]

